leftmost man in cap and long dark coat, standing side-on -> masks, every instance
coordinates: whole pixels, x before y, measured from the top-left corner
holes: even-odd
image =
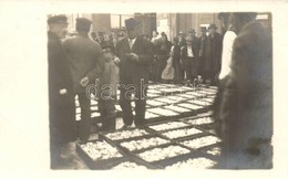
[[[51,168],[58,168],[56,166],[63,162],[61,149],[76,139],[75,103],[73,82],[61,44],[61,38],[66,33],[66,17],[51,17],[48,24]]]

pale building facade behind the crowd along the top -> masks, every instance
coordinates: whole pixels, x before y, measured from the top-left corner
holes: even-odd
[[[75,19],[88,18],[92,21],[92,32],[111,33],[115,30],[125,29],[125,20],[135,18],[138,24],[140,34],[152,36],[156,30],[158,33],[165,32],[168,39],[173,39],[179,31],[187,33],[195,29],[196,35],[200,34],[200,27],[208,27],[210,23],[217,25],[217,31],[224,33],[224,20],[218,18],[219,13],[132,13],[132,14],[110,14],[110,13],[75,13],[69,14],[69,31],[75,31]],[[271,14],[261,12],[259,20],[265,27],[271,28]],[[226,20],[227,21],[227,20]]]

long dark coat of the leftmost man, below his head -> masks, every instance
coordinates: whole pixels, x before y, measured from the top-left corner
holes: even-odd
[[[73,82],[61,41],[48,33],[49,119],[51,141],[75,139],[75,102]],[[60,90],[66,90],[61,95]]]

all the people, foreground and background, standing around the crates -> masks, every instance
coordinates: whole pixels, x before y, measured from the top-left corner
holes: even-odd
[[[269,168],[271,33],[255,21],[256,13],[228,15],[230,23],[224,39],[216,32],[217,27],[210,24],[208,29],[200,28],[198,38],[192,29],[187,34],[179,32],[172,42],[164,32],[154,31],[151,39],[138,34],[138,22],[134,18],[125,20],[126,35],[104,35],[103,39],[90,33],[90,20],[78,18],[78,34],[62,40],[68,28],[66,17],[49,18],[51,168],[64,162],[63,146],[89,140],[91,96],[88,88],[95,90],[102,123],[99,130],[106,131],[115,130],[117,90],[124,123],[121,129],[133,124],[141,128],[145,125],[148,81],[193,84],[199,78],[219,88],[213,107],[218,124],[215,129],[224,144],[219,167]],[[75,95],[81,107],[79,128]]]

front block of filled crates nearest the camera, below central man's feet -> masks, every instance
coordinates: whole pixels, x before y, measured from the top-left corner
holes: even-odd
[[[78,151],[91,169],[210,168],[217,164],[222,140],[189,122],[206,124],[207,117],[100,133],[97,140],[78,144]]]

